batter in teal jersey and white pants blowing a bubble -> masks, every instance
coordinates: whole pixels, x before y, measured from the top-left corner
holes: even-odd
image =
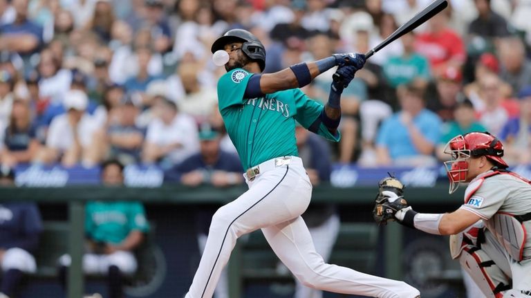
[[[212,297],[236,239],[258,229],[306,286],[370,297],[418,297],[418,290],[402,281],[324,263],[301,218],[310,203],[312,185],[297,156],[295,122],[337,142],[341,93],[363,67],[364,55],[336,54],[261,74],[265,48],[250,32],[226,32],[212,45],[212,53],[218,50],[230,56],[225,64],[227,73],[218,82],[219,111],[243,169],[247,169],[244,176],[249,189],[212,217],[203,257],[185,297]],[[300,87],[335,66],[339,66],[337,73],[342,79],[333,82],[325,106],[301,92]]]

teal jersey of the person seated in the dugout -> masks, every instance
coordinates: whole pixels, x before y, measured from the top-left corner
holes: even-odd
[[[141,203],[98,201],[86,204],[85,232],[89,239],[118,244],[133,230],[149,231]]]

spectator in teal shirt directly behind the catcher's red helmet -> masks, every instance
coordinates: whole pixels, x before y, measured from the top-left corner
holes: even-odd
[[[487,131],[483,124],[476,119],[474,104],[467,99],[459,100],[454,109],[454,120],[443,123],[441,138],[437,145],[436,155],[439,160],[449,160],[451,156],[444,153],[445,146],[452,138],[465,135],[472,131]]]

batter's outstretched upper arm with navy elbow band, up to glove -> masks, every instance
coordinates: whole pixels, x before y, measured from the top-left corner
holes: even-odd
[[[334,54],[315,62],[295,64],[276,73],[253,75],[245,89],[245,97],[254,98],[277,91],[301,88],[334,66],[353,66],[357,71],[364,64],[365,56],[362,54]]]

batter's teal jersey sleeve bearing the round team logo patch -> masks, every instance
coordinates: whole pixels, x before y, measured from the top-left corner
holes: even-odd
[[[236,68],[218,80],[218,104],[222,111],[229,106],[243,104],[243,94],[252,73],[248,73],[242,68]]]

